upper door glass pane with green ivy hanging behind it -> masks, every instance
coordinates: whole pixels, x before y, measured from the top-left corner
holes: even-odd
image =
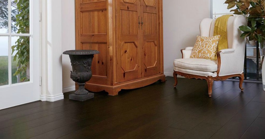
[[[29,33],[29,0],[11,0],[12,33]]]

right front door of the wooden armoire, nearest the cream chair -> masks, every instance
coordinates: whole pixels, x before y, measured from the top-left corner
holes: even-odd
[[[160,38],[159,7],[156,0],[141,1],[143,17],[142,30],[142,77],[159,74]]]

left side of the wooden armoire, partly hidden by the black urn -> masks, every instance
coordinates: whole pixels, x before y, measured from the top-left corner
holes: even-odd
[[[78,38],[76,48],[80,50],[98,50],[92,62],[92,78],[87,83],[108,84],[108,46],[107,46],[107,1],[76,0],[76,29]],[[77,4],[77,2],[76,2]]]

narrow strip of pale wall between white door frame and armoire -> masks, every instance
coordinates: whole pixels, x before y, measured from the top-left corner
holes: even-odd
[[[75,50],[75,6],[74,0],[62,1],[62,53]],[[74,81],[70,78],[72,66],[68,55],[62,55],[63,92],[73,91]]]

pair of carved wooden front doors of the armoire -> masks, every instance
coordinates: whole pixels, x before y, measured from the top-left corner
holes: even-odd
[[[159,74],[159,8],[156,0],[118,0],[118,82]]]

